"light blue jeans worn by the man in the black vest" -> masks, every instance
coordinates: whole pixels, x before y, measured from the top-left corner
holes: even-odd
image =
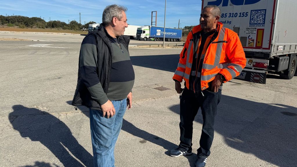
[[[108,119],[106,115],[102,117],[101,110],[89,109],[94,167],[115,167],[114,146],[121,131],[127,98],[111,102],[116,114]]]

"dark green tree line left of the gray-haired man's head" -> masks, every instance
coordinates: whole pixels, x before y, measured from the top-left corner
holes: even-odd
[[[0,15],[0,26],[8,26],[14,27],[17,26],[19,28],[38,28],[38,29],[64,29],[64,30],[82,30],[83,28],[88,29],[89,24],[96,23],[94,21],[90,21],[86,24],[80,24],[77,21],[70,21],[69,24],[63,21],[48,21],[46,22],[42,18],[39,17],[26,17],[26,16],[3,16]]]

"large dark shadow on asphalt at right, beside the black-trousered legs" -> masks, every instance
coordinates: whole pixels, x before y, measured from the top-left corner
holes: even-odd
[[[179,114],[179,105],[170,110]],[[203,123],[200,109],[195,121]],[[297,108],[222,95],[215,122],[215,132],[228,146],[277,166],[296,166]],[[199,141],[193,141],[195,147]]]

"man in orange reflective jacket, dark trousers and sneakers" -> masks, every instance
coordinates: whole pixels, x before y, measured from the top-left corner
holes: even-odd
[[[192,154],[193,121],[201,108],[203,126],[196,167],[204,167],[214,139],[214,118],[222,95],[222,83],[238,76],[246,58],[238,35],[219,22],[221,10],[207,5],[200,15],[200,25],[187,36],[173,76],[180,97],[180,144],[170,155]],[[181,88],[182,80],[185,88]]]

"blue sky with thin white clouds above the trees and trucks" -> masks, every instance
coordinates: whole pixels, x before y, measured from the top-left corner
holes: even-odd
[[[81,23],[102,22],[102,12],[107,5],[121,4],[128,8],[127,19],[130,25],[151,25],[151,12],[157,11],[157,26],[164,26],[165,0],[0,0],[0,15],[22,15],[41,17],[45,21],[59,20],[68,23],[75,20]],[[192,26],[199,24],[201,0],[167,0],[166,27]]]

